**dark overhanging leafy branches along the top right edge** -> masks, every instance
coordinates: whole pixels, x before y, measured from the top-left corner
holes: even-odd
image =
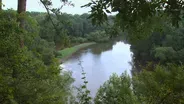
[[[171,15],[173,25],[178,25],[181,19],[184,2],[180,0],[92,0],[82,7],[91,7],[92,21],[103,23],[106,13],[118,12],[123,27],[129,27],[134,23],[141,23],[158,12]]]

